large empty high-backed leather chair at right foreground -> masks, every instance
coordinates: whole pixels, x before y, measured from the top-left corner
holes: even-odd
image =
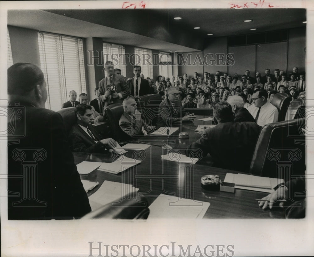
[[[269,123],[258,137],[250,173],[290,179],[305,171],[305,118]]]

